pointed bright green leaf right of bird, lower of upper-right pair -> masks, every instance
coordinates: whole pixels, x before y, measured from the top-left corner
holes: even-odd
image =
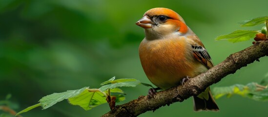
[[[221,35],[217,37],[215,40],[227,39],[228,41],[235,43],[235,42],[249,40],[255,37],[255,35],[258,33],[260,32],[252,31],[252,30],[237,30],[227,35]]]

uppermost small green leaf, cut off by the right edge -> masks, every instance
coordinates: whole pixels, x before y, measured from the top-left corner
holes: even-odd
[[[238,23],[241,24],[241,26],[255,26],[261,23],[265,23],[266,20],[268,20],[268,16],[258,17],[250,20],[244,20]]]

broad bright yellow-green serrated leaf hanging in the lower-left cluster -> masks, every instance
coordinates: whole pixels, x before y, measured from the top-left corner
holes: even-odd
[[[79,105],[84,110],[90,110],[98,105],[107,103],[106,97],[101,92],[88,92],[84,90],[80,95],[69,98],[69,103]]]

